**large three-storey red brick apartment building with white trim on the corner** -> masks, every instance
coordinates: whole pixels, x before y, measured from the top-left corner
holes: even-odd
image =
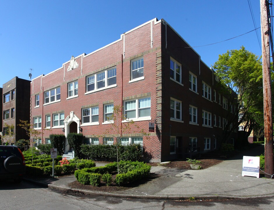
[[[38,143],[70,132],[82,132],[91,144],[113,143],[97,136],[110,127],[106,117],[113,106],[122,105],[127,118],[150,133],[147,139],[136,129],[122,142],[143,144],[147,161],[218,148],[228,102],[217,90],[214,72],[185,47],[165,20],[155,18],[33,79],[31,119],[35,129],[48,128]],[[149,122],[155,123],[154,132]]]

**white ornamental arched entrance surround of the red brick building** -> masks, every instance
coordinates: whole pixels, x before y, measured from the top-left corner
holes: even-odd
[[[67,153],[70,149],[69,145],[68,145],[67,135],[72,132],[79,133],[78,127],[80,127],[80,122],[81,122],[81,120],[74,114],[74,111],[71,111],[70,114],[64,120],[65,136],[66,136],[65,151],[64,151],[65,153]]]

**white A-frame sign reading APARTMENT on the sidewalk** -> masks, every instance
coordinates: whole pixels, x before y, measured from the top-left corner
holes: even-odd
[[[242,176],[259,178],[260,157],[243,156]]]

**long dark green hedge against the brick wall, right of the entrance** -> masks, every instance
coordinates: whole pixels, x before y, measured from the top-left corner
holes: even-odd
[[[88,145],[82,144],[80,152],[87,158],[92,160],[117,160],[117,151],[115,145]],[[140,160],[140,155],[143,153],[140,144],[119,145],[118,149],[119,160]]]

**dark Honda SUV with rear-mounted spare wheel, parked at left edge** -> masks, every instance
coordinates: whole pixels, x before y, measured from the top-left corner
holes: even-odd
[[[0,145],[0,178],[21,182],[26,173],[25,158],[16,146]]]

